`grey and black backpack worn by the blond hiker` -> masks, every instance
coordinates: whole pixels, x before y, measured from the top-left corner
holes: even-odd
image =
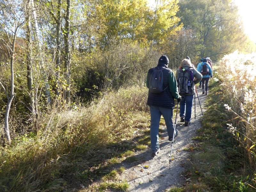
[[[188,93],[192,93],[192,84],[194,83],[193,71],[190,68],[181,68],[180,73],[178,74],[177,83],[179,94],[186,95]]]

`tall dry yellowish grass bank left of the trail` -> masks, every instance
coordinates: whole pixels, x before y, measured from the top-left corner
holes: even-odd
[[[134,86],[87,107],[42,116],[37,133],[0,148],[0,191],[60,191],[89,180],[89,168],[106,159],[105,146],[148,121],[146,98],[147,89]]]

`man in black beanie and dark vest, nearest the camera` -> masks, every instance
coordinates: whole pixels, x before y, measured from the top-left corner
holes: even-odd
[[[169,141],[172,141],[173,136],[173,109],[174,109],[174,99],[180,102],[181,97],[178,92],[177,81],[175,79],[174,73],[168,68],[169,60],[166,55],[162,55],[158,60],[158,65],[155,68],[148,70],[146,85],[148,87],[148,101],[147,105],[150,107],[150,141],[152,156],[156,156],[159,153],[159,124],[161,115],[164,117],[164,121],[167,127],[167,133],[169,136]],[[160,93],[154,93],[152,90],[151,76],[155,74],[154,71],[162,70],[163,84]],[[153,77],[154,78],[154,77]],[[174,138],[178,135],[178,130],[175,131]]]

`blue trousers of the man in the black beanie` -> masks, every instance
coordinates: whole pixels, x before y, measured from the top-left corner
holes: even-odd
[[[157,151],[159,149],[159,123],[161,115],[164,117],[164,121],[167,127],[168,136],[173,135],[173,109],[150,106],[150,141],[151,141],[151,150]]]

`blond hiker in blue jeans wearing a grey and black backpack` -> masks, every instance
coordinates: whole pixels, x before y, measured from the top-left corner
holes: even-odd
[[[189,77],[186,77],[185,74],[189,74]],[[182,76],[186,77],[189,80],[182,81]],[[184,79],[184,78],[183,78]],[[180,69],[176,71],[176,80],[179,84],[179,94],[181,95],[180,101],[180,122],[185,122],[185,126],[190,124],[192,106],[195,91],[195,84],[199,83],[202,79],[201,73],[199,73],[195,68],[192,67],[192,63],[188,59],[181,61]],[[183,86],[185,85],[187,86]]]

